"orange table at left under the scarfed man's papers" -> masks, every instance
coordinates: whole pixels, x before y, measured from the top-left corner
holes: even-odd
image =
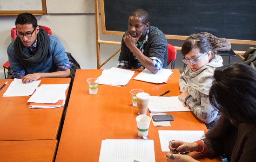
[[[70,78],[42,78],[40,84],[66,84]],[[0,80],[0,141],[56,139],[63,107],[30,109],[27,97],[3,97],[13,80]],[[67,92],[67,91],[66,91]]]

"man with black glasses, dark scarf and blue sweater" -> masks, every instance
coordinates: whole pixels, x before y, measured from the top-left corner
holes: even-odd
[[[15,25],[17,37],[7,48],[14,78],[27,83],[40,78],[69,77],[73,64],[57,37],[38,26],[31,13],[20,13]]]

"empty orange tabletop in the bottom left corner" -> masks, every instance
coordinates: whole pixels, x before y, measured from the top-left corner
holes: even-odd
[[[53,162],[57,140],[0,141],[1,162]]]

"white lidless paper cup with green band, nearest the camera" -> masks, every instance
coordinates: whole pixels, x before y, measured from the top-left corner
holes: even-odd
[[[139,115],[136,117],[137,130],[139,137],[148,137],[148,129],[151,118],[147,115]]]

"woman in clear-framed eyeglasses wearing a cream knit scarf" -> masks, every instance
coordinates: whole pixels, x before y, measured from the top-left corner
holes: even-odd
[[[209,103],[209,90],[214,70],[222,65],[222,57],[216,55],[216,42],[202,33],[193,34],[182,45],[184,71],[179,86],[183,106],[210,129],[219,118],[218,111]],[[218,116],[218,117],[217,117]]]

